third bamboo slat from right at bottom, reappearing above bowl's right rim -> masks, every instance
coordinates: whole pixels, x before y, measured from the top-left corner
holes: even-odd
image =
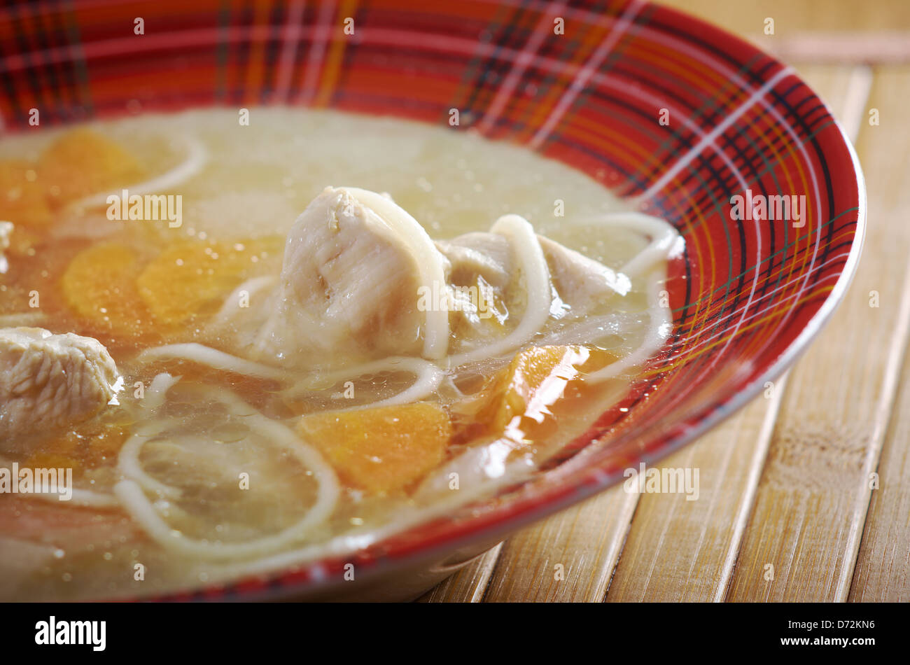
[[[844,66],[799,69],[855,132],[868,90],[867,72]],[[664,462],[666,467],[699,469],[699,499],[642,496],[607,600],[723,600],[784,386],[785,381],[778,381],[766,396]]]

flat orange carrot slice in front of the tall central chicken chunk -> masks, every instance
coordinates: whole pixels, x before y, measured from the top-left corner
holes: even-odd
[[[451,436],[448,414],[430,402],[317,413],[301,418],[298,428],[344,482],[386,494],[439,465]]]

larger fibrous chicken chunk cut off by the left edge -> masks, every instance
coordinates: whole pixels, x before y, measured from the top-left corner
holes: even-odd
[[[114,360],[95,338],[0,328],[0,448],[90,418],[114,397],[116,380]]]

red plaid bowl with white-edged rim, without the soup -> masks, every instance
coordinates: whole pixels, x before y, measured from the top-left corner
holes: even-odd
[[[685,237],[666,346],[534,478],[352,556],[159,600],[413,598],[743,407],[818,333],[860,255],[863,176],[830,109],[787,65],[660,5],[86,0],[7,5],[0,28],[7,132],[199,106],[440,125],[457,109],[452,131],[572,166]]]

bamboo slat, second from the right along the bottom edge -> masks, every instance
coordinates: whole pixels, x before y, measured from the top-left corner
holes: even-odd
[[[864,260],[790,373],[728,600],[845,600],[850,590],[910,324],[908,86],[906,68],[876,73],[869,106],[886,121],[864,125],[858,143],[869,195]],[[880,307],[870,307],[872,291]]]

